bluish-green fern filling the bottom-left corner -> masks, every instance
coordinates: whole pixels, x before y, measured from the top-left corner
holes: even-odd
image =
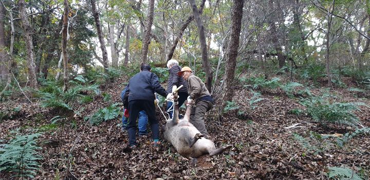
[[[0,145],[0,172],[12,172],[12,177],[34,178],[42,159],[37,150],[41,134],[16,135],[9,143]]]

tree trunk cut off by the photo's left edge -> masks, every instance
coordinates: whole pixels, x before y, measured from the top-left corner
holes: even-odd
[[[9,76],[7,51],[5,49],[4,20],[5,10],[3,4],[0,4],[0,81],[6,81]]]

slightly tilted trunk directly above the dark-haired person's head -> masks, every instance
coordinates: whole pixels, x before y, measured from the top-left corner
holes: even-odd
[[[153,24],[153,16],[154,16],[154,0],[149,0],[149,11],[147,16],[147,22],[145,27],[145,37],[144,42],[141,50],[141,62],[146,63],[147,59],[147,51],[149,48],[149,43],[151,40],[152,34],[152,24]]]

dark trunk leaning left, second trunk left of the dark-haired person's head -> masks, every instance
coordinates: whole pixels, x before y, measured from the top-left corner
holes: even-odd
[[[105,48],[105,43],[104,43],[104,39],[103,39],[103,32],[102,32],[101,25],[100,25],[99,13],[96,9],[95,1],[96,0],[90,0],[90,3],[91,3],[91,9],[93,10],[95,25],[97,27],[100,49],[101,49],[102,55],[103,55],[103,67],[106,69],[106,68],[108,68],[108,55],[107,55],[107,51],[106,51],[106,48]]]

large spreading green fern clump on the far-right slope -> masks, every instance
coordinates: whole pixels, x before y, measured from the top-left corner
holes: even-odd
[[[336,102],[332,96],[312,96],[301,100],[301,104],[306,107],[307,114],[313,120],[321,123],[338,122],[356,126],[359,118],[353,113],[360,111],[359,105],[364,103],[356,102]]]

